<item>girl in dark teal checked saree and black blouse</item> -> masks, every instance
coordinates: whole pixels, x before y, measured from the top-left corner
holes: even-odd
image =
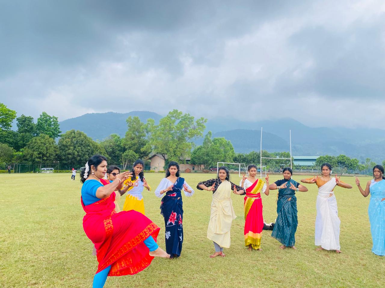
[[[284,179],[277,180],[269,185],[270,190],[278,189],[278,216],[271,236],[282,243],[280,246],[281,249],[285,249],[286,247],[296,249],[294,244],[298,218],[297,197],[295,197],[295,192],[306,192],[308,190],[305,186],[291,179],[292,174],[293,171],[291,168],[286,167],[283,169]]]

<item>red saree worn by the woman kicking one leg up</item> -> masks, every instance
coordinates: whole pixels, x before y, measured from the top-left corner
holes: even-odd
[[[96,248],[96,273],[111,265],[108,276],[133,275],[154,259],[143,241],[150,235],[156,241],[160,228],[134,210],[116,213],[114,200],[115,192],[87,206],[81,201],[84,232]]]

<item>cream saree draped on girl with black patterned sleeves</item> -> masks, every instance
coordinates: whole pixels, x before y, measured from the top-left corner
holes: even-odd
[[[236,218],[233,202],[231,201],[231,183],[227,180],[219,185],[211,201],[211,215],[207,238],[219,246],[230,248],[230,228]]]

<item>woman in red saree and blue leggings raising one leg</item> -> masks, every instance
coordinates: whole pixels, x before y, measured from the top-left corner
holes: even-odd
[[[108,276],[132,275],[144,270],[155,256],[169,258],[156,244],[159,227],[134,210],[115,212],[115,192],[131,176],[123,172],[108,185],[100,179],[107,172],[104,156],[94,155],[81,172],[81,203],[86,212],[83,228],[94,243],[99,262],[93,288],[104,286]]]

